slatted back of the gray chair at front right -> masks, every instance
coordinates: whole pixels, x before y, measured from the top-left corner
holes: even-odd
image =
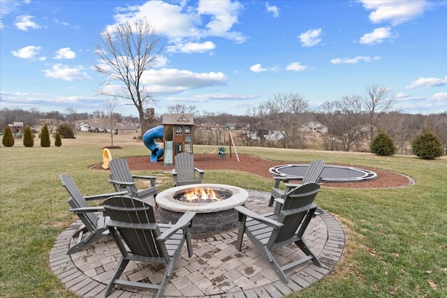
[[[299,234],[298,228],[302,224],[305,216],[309,216],[308,210],[300,210],[301,207],[307,207],[313,204],[317,193],[320,191],[320,186],[314,182],[304,184],[297,188],[293,188],[286,194],[284,204],[279,213],[278,221],[284,226],[278,230],[273,230],[272,236],[269,239],[268,246],[272,247],[274,244],[279,244],[281,241],[287,241],[295,235]],[[312,214],[310,214],[312,216]],[[310,221],[310,218],[309,218]],[[307,225],[308,223],[306,223]],[[300,231],[304,232],[307,227],[302,227]],[[302,235],[300,234],[299,237]]]

